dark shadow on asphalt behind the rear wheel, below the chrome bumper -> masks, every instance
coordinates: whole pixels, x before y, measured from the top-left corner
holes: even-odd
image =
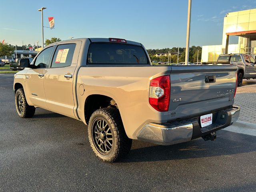
[[[249,144],[248,144],[249,143]],[[220,130],[216,141],[202,138],[171,146],[154,145],[134,140],[124,163],[181,160],[256,151],[256,137]],[[142,147],[143,146],[143,147]]]

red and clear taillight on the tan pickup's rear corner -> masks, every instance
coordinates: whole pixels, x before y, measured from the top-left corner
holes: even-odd
[[[170,103],[170,76],[164,75],[150,80],[149,104],[157,111],[168,111]]]

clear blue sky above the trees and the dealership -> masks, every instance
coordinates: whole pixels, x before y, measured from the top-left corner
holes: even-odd
[[[44,38],[116,37],[146,48],[185,47],[188,0],[1,0],[0,40],[41,45],[42,6],[44,26],[48,17],[55,20]],[[221,44],[226,13],[251,8],[256,0],[192,0],[190,46]]]

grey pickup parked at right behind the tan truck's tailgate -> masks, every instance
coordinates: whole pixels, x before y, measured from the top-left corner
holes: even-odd
[[[216,62],[203,62],[202,64],[237,66],[238,86],[242,86],[243,79],[256,79],[256,61],[249,54],[224,54],[218,56]]]

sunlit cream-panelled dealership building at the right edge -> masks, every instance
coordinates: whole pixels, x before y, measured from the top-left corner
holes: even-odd
[[[229,44],[238,36],[237,44]],[[244,53],[256,58],[256,9],[227,13],[224,17],[222,45],[202,46],[202,62],[216,61],[220,54]]]

